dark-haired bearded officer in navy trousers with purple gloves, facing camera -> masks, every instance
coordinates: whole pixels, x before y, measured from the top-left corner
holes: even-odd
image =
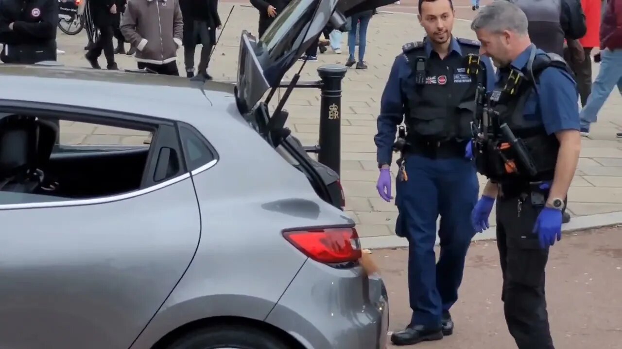
[[[494,83],[488,75],[471,78],[466,55],[480,44],[452,36],[451,0],[419,0],[419,22],[427,37],[409,43],[396,57],[381,99],[378,116],[378,192],[391,201],[391,153],[397,125],[404,121],[403,147],[397,160],[396,233],[409,241],[408,287],[411,323],[393,333],[395,345],[439,340],[453,333],[449,310],[458,299],[466,251],[475,229],[470,211],[479,184],[473,161],[466,156],[471,138],[478,83]],[[485,81],[485,82],[484,82]],[[402,131],[401,131],[402,133]],[[397,142],[396,142],[397,144]],[[440,259],[434,245],[440,220]]]

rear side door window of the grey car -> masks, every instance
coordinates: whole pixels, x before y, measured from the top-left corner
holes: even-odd
[[[183,157],[173,122],[0,110],[0,205],[139,194],[187,173]]]

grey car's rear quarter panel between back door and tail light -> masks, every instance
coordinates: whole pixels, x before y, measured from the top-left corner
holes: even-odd
[[[211,124],[205,118],[193,124],[219,156],[213,168],[193,175],[202,218],[200,246],[182,281],[132,349],[151,348],[165,333],[194,320],[266,319],[307,260],[282,237],[282,230],[354,225],[322,201],[304,174],[253,129],[235,127],[239,120],[234,118],[229,122]],[[231,130],[236,130],[235,137]]]

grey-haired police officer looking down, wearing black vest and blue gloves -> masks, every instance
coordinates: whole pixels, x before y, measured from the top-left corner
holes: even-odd
[[[487,229],[496,200],[509,332],[519,349],[554,349],[544,270],[549,247],[561,238],[562,210],[581,148],[576,84],[559,55],[531,43],[527,17],[515,4],[483,7],[471,29],[481,53],[499,67],[474,142],[476,167],[489,181],[472,223],[478,231]]]

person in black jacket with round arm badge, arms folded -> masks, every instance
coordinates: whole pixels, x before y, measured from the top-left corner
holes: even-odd
[[[55,61],[57,24],[57,0],[0,0],[0,60]]]

